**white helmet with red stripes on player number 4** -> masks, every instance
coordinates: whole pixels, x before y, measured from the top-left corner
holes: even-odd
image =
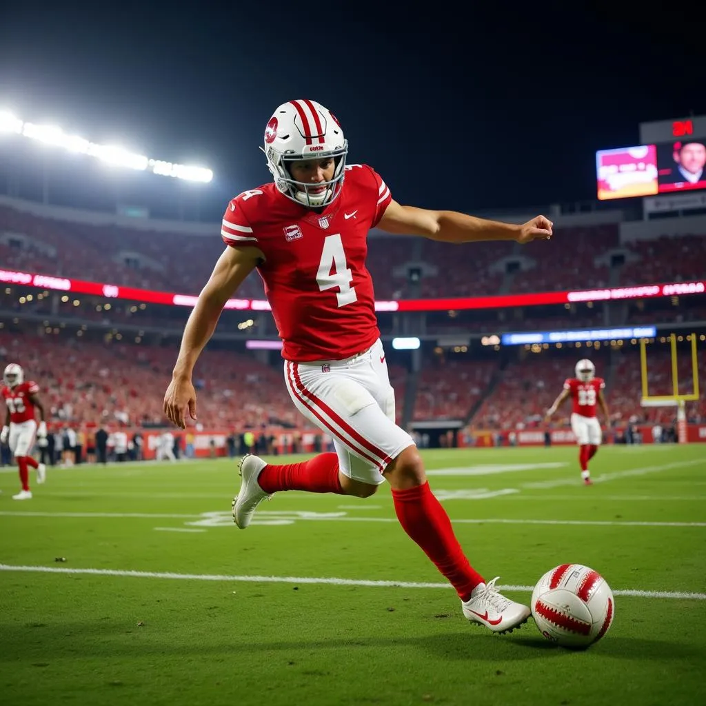
[[[275,185],[287,198],[310,208],[331,203],[343,186],[348,141],[330,110],[315,100],[290,100],[275,110],[265,128],[265,148],[268,168]],[[333,157],[336,169],[331,181],[305,184],[292,179],[287,162],[321,160]],[[311,189],[321,189],[311,192]]]

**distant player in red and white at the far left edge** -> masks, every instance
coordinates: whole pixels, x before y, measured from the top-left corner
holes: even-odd
[[[13,495],[13,500],[31,500],[30,472],[28,466],[37,469],[37,483],[44,483],[47,477],[47,467],[30,456],[35,437],[40,439],[40,443],[47,438],[47,424],[44,421],[44,407],[40,402],[37,393],[40,388],[37,383],[28,381],[25,383],[25,373],[16,363],[9,364],[3,374],[2,397],[7,407],[5,426],[0,432],[0,443],[9,441],[10,450],[17,460],[20,469],[20,481],[22,489],[17,495]],[[37,429],[35,419],[35,407],[40,413],[40,426]]]

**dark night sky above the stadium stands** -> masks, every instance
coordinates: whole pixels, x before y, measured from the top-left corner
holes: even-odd
[[[668,21],[645,4],[549,9],[569,4],[16,2],[0,11],[0,108],[203,164],[232,195],[269,180],[275,107],[309,97],[401,203],[591,200],[595,150],[706,112],[706,55],[681,4]]]

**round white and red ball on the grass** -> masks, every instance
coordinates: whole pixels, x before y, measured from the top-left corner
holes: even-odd
[[[606,580],[582,564],[547,571],[532,592],[532,616],[547,640],[563,647],[588,647],[607,632],[615,599]]]

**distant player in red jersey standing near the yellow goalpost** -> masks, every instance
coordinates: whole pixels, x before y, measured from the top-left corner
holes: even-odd
[[[597,405],[601,405],[606,418],[606,426],[611,425],[611,417],[603,396],[606,383],[603,378],[595,376],[596,367],[594,364],[584,358],[578,361],[575,371],[576,377],[568,378],[564,383],[564,389],[554,400],[554,405],[551,405],[547,410],[544,421],[548,424],[554,412],[563,405],[564,400],[571,397],[573,402],[571,429],[576,437],[576,443],[579,445],[578,460],[581,465],[581,477],[586,485],[591,485],[588,462],[596,455],[603,437],[601,424],[596,417]]]

